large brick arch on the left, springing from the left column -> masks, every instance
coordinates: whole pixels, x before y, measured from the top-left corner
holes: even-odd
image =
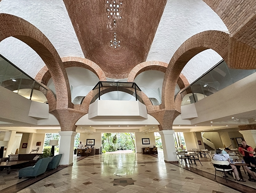
[[[26,20],[10,14],[0,14],[0,42],[11,36],[35,50],[48,67],[56,87],[57,108],[72,108],[68,76],[49,39]]]

